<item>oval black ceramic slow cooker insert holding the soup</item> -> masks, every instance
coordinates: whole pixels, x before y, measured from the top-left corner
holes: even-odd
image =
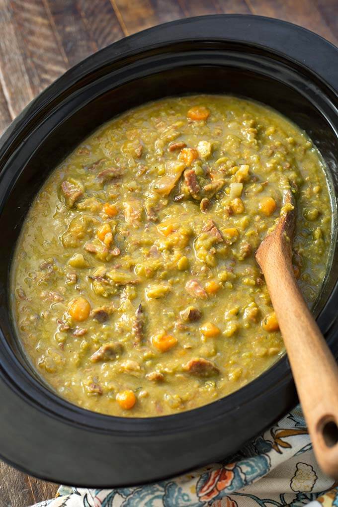
[[[27,210],[48,174],[110,118],[166,95],[228,93],[274,107],[305,129],[338,192],[338,50],[295,25],[258,16],[204,16],[123,39],[67,71],[0,141],[0,455],[46,480],[111,487],[170,477],[235,452],[296,403],[287,357],[210,405],[157,418],[89,412],[36,377],[11,320],[9,272]],[[317,302],[338,355],[338,258]]]

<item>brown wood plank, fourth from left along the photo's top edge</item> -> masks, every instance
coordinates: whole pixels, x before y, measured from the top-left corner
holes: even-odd
[[[124,32],[109,0],[78,0],[87,33],[98,49],[121,39]]]

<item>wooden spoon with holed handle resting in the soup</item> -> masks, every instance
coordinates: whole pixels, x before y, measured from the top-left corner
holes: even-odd
[[[255,258],[266,279],[317,461],[338,480],[338,366],[294,278],[294,206],[291,191],[285,191],[281,217]]]

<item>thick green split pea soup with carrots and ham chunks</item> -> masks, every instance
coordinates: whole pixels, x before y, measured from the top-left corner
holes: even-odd
[[[57,167],[23,225],[14,317],[62,397],[119,416],[192,409],[284,352],[254,252],[296,198],[294,273],[311,306],[331,238],[318,151],[270,108],[167,98],[99,128]]]

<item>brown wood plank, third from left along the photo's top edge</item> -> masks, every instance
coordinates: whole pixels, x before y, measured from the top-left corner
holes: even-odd
[[[97,51],[74,0],[44,0],[70,65]]]

